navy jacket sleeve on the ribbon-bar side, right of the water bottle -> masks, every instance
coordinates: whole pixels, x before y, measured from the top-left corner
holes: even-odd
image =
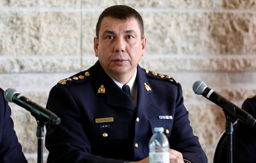
[[[170,148],[181,152],[185,160],[192,163],[207,163],[207,157],[203,152],[198,137],[194,136],[190,126],[188,112],[183,104],[180,84],[178,84],[175,117],[169,142]]]

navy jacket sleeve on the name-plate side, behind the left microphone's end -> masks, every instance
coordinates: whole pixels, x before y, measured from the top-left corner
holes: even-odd
[[[47,125],[45,145],[49,151],[47,163],[123,163],[90,154],[91,146],[84,132],[81,111],[66,87],[56,85],[49,94],[47,109],[60,119],[59,125]],[[93,108],[92,108],[93,109]]]

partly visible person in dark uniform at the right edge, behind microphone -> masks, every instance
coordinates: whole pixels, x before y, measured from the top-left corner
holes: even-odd
[[[242,108],[256,118],[256,94],[249,96]],[[256,125],[250,126],[238,120],[233,132],[233,162],[255,163],[255,153]]]

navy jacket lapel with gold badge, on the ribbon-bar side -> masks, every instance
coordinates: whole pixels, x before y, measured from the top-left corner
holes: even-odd
[[[146,78],[145,72],[138,65],[137,67],[137,89],[138,89],[138,97],[137,97],[137,109],[136,109],[136,117],[145,112],[145,110],[151,105],[152,100],[149,97],[149,93],[152,93],[153,90],[147,90],[145,87],[148,85],[150,88],[150,84]]]

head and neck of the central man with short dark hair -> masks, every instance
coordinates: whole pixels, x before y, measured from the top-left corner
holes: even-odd
[[[100,15],[96,31],[94,51],[102,68],[126,84],[146,50],[141,16],[128,6],[112,6]]]

